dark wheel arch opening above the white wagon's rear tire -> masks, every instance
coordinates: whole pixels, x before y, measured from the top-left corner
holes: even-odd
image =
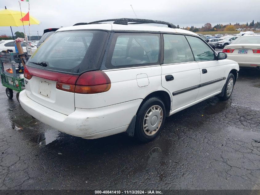
[[[143,99],[143,101],[142,101],[142,103],[140,104],[139,108],[142,106],[142,104],[143,104],[146,100],[148,100],[148,99],[151,98],[151,97],[158,97],[158,98],[160,98],[160,99],[162,100],[162,102],[165,104],[165,109],[166,109],[166,113],[167,113],[166,116],[169,116],[172,100],[171,100],[171,97],[170,97],[169,93],[167,93],[166,91],[154,91],[154,92],[150,93],[149,95],[147,95],[147,96]],[[138,108],[138,110],[139,110],[139,108]],[[138,112],[138,111],[137,111],[137,112]]]

